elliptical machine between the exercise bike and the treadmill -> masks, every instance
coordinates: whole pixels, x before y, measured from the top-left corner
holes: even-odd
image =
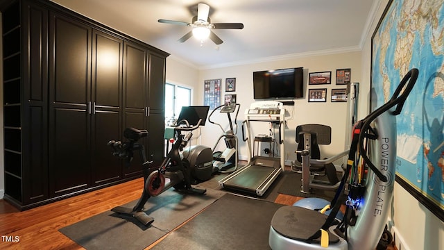
[[[212,155],[213,155],[213,172],[219,172],[219,173],[231,173],[236,171],[237,169],[237,163],[239,162],[239,153],[237,151],[238,149],[238,140],[237,140],[237,115],[239,114],[239,109],[241,108],[241,104],[239,103],[228,103],[223,104],[217,108],[214,108],[212,113],[210,113],[210,116],[208,117],[208,122],[212,124],[216,124],[221,128],[223,134],[219,136],[219,139],[216,141],[216,144],[214,144],[214,147],[212,149]],[[220,109],[220,110],[219,110]],[[225,129],[221,126],[221,124],[217,122],[213,122],[211,120],[212,115],[216,110],[219,110],[219,113],[225,113],[228,117],[228,125],[230,126],[230,129],[225,131]],[[231,118],[231,113],[236,113],[234,115],[234,122]],[[234,130],[234,125],[236,126]],[[225,141],[225,150],[223,152],[216,151],[217,145],[221,140]]]

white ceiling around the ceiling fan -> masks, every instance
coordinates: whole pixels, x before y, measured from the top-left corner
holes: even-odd
[[[378,0],[51,0],[198,68],[257,63],[275,58],[360,50]],[[210,5],[213,23],[241,22],[242,30],[214,30],[217,46],[190,38],[197,3]]]

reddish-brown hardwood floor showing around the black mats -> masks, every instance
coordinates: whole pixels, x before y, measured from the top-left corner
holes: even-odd
[[[58,230],[139,199],[143,185],[144,179],[137,178],[22,212],[1,199],[0,249],[84,249]],[[275,202],[292,205],[299,199],[302,198],[279,194]]]

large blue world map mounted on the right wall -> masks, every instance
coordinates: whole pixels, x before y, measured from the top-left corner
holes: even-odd
[[[390,1],[372,37],[371,63],[373,110],[391,98],[410,69],[419,70],[397,117],[396,175],[443,219],[444,1]]]

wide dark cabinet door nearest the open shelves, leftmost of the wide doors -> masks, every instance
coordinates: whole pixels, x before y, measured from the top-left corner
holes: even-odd
[[[49,30],[50,194],[89,188],[91,28],[51,13]]]

